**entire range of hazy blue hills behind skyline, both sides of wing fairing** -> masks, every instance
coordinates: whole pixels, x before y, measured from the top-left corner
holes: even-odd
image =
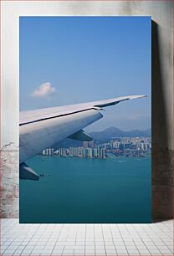
[[[151,136],[151,129],[145,131],[133,130],[133,131],[122,131],[116,127],[110,127],[104,131],[90,132],[90,136],[93,137],[94,141],[110,141],[118,137],[141,137],[141,136]],[[54,148],[58,147],[69,147],[69,146],[82,146],[82,141],[74,141],[71,139],[64,139],[59,141],[59,143],[54,145]]]

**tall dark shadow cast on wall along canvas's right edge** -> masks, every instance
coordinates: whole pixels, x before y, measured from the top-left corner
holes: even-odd
[[[165,83],[162,77],[159,26],[151,24],[151,90],[152,90],[152,219],[174,217],[173,152],[168,149],[169,127],[166,120]]]

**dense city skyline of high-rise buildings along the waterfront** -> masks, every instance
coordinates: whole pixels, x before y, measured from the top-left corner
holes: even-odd
[[[78,156],[89,158],[110,158],[113,156],[151,156],[151,137],[120,137],[110,141],[81,141],[81,146],[49,147],[43,156]]]

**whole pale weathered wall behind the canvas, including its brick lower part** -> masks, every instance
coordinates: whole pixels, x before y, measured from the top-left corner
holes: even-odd
[[[18,217],[18,18],[24,15],[151,16],[155,22],[152,24],[152,198],[154,215],[162,218],[168,212],[170,217],[173,214],[170,206],[174,185],[171,184],[171,164],[168,164],[174,156],[171,152],[174,150],[172,1],[3,1],[1,6],[1,217]],[[164,191],[168,201],[163,198]]]

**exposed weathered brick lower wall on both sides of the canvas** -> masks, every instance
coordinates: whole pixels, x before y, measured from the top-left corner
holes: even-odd
[[[11,150],[10,150],[11,148]],[[152,218],[174,217],[174,151],[153,148]],[[1,151],[1,218],[18,218],[18,148],[6,146]]]

